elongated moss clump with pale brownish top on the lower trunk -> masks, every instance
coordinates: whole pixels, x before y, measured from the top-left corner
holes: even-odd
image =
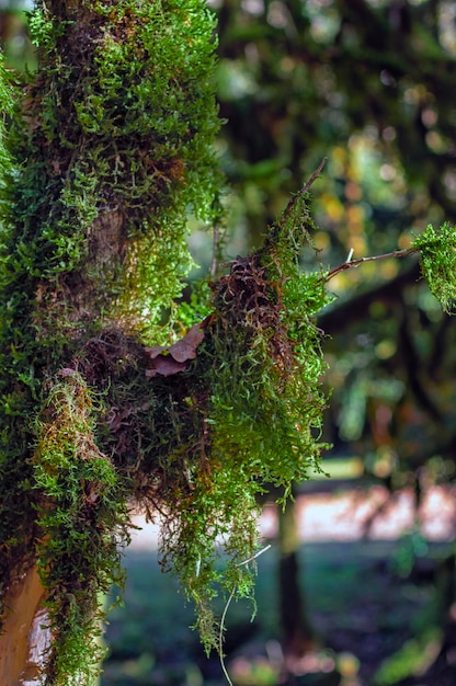
[[[53,630],[49,684],[95,677],[103,654],[99,594],[123,579],[119,545],[128,540],[129,517],[123,480],[95,443],[100,410],[80,374],[65,368],[36,421],[36,554]]]

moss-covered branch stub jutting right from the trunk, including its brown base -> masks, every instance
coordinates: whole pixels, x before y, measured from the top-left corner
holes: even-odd
[[[90,339],[70,363],[102,396],[95,443],[112,456],[119,502],[161,515],[161,563],[195,602],[207,650],[218,648],[213,598],[235,588],[252,595],[254,563],[242,562],[258,546],[258,496],[269,484],[286,496],[318,468],[323,447],[314,315],[328,296],[320,274],[300,274],[309,243],[296,205],[272,228],[267,250],[237,259],[212,284],[212,313],[196,339],[159,348],[164,366],[118,328]]]

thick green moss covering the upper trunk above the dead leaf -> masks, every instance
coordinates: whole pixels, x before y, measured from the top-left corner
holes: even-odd
[[[4,288],[26,295],[11,317],[56,358],[89,325],[157,336],[190,265],[189,208],[209,219],[219,185],[214,20],[203,0],[56,0],[32,26],[39,69],[15,113],[2,255]]]

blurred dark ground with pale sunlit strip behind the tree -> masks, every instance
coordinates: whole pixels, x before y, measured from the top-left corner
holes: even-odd
[[[443,561],[454,540],[454,490],[431,488],[415,512],[411,489],[391,496],[380,485],[322,493],[314,484],[297,498],[297,517],[300,583],[316,650],[284,675],[277,522],[275,507],[266,505],[261,529],[273,545],[258,560],[256,616],[251,621],[251,606],[232,603],[226,621],[226,663],[235,685],[388,686],[410,677],[410,661],[424,674],[444,640],[438,627]],[[217,656],[208,660],[189,629],[192,607],[176,581],[161,573],[158,525],[139,515],[135,524],[142,528],[134,531],[126,552],[125,607],[109,617],[110,658],[101,686],[226,685]],[[223,610],[220,601],[217,611]],[[386,662],[395,655],[396,662]],[[442,676],[407,683],[456,682]]]

